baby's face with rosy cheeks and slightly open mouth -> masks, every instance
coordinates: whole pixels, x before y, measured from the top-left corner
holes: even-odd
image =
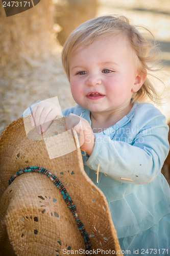
[[[75,101],[91,112],[126,110],[139,81],[134,54],[124,37],[113,36],[72,52],[70,87]]]

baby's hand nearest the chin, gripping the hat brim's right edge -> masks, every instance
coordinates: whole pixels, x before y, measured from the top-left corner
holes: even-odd
[[[95,136],[89,122],[75,114],[69,114],[65,119],[67,130],[74,128],[79,134],[79,143],[81,150],[85,151],[89,156],[94,148]]]

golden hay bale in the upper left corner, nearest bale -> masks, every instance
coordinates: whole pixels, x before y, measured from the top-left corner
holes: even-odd
[[[54,48],[53,2],[40,1],[35,7],[6,17],[0,3],[0,65],[47,55]]]

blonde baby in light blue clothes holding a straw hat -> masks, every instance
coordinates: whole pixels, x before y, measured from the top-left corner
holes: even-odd
[[[62,51],[77,102],[62,112],[66,128],[78,132],[85,172],[105,194],[120,247],[131,255],[170,253],[170,193],[160,173],[168,126],[153,104],[141,103],[157,98],[147,77],[156,56],[127,18],[113,16],[80,25]],[[44,132],[59,114],[55,104],[38,102],[32,126]]]

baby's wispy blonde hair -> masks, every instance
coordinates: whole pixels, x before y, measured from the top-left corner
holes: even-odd
[[[138,29],[137,29],[138,28]],[[145,29],[152,39],[145,38],[139,29]],[[69,80],[69,57],[72,51],[80,46],[88,47],[94,41],[108,35],[125,35],[136,53],[138,59],[138,71],[155,71],[153,63],[158,60],[159,48],[155,45],[153,34],[144,27],[135,27],[129,24],[125,16],[101,16],[88,20],[81,24],[68,36],[62,50],[62,63]],[[107,38],[107,37],[106,37]],[[158,103],[159,97],[151,81],[147,77],[139,89],[134,93],[133,101],[142,100],[148,96],[153,102]]]

